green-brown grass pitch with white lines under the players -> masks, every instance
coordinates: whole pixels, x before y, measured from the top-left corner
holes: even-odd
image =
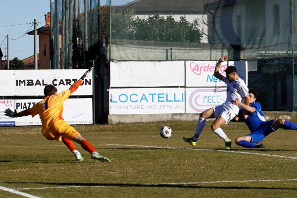
[[[278,130],[264,139],[265,149],[224,142],[210,131],[196,147],[183,142],[196,122],[74,126],[111,163],[85,158],[36,127],[0,128],[0,198],[296,198],[297,132]],[[162,139],[159,128],[173,129]],[[247,134],[243,123],[224,131],[234,142]]]

